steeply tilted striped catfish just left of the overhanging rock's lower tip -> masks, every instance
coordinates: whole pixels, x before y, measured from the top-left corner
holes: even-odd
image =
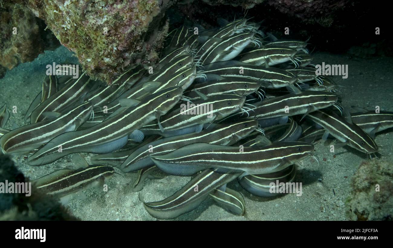
[[[63,87],[35,108],[30,116],[31,123],[43,120],[42,114],[44,112],[61,112],[62,109],[81,100],[81,98],[83,99],[89,86],[91,86],[90,78],[84,72],[75,82],[70,82],[70,85],[67,84],[67,87]]]

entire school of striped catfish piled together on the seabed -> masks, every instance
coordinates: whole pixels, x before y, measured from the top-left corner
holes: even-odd
[[[344,109],[340,86],[317,75],[308,40],[279,40],[245,18],[218,24],[174,28],[158,64],[132,65],[111,84],[85,73],[46,76],[26,112],[29,124],[4,129],[10,115],[0,109],[2,153],[24,155],[30,166],[74,154],[79,169],[33,181],[61,198],[102,187],[120,172],[138,173],[133,191],[146,178],[191,176],[171,197],[143,202],[158,219],[190,212],[208,197],[243,215],[242,194],[226,185],[277,195],[270,183],[294,182],[296,162],[318,160],[319,139],[370,159],[381,153],[373,138],[393,127],[393,112]],[[91,165],[76,153],[93,153]]]

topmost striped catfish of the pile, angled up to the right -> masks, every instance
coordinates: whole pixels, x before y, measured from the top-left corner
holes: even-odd
[[[202,42],[202,44],[196,48],[196,57],[201,61],[204,60],[209,51],[211,51],[216,44],[237,32],[243,31],[246,21],[247,20],[244,18],[237,19],[209,33],[207,31],[201,32],[201,36],[198,40]]]

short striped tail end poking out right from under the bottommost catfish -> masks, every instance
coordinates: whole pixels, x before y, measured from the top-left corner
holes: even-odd
[[[231,190],[225,185],[210,192],[213,199],[221,208],[236,215],[244,215],[246,204],[241,193]]]

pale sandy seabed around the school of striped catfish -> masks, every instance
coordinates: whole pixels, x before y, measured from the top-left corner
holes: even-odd
[[[393,111],[393,58],[351,59],[347,55],[314,53],[314,60],[348,65],[348,78],[338,82],[344,86],[341,89],[344,108],[350,109],[354,105],[372,110],[380,106],[381,110]],[[11,113],[6,128],[11,128],[13,123],[26,125],[24,114],[41,90],[46,65],[53,62],[70,64],[77,63],[77,59],[61,46],[55,51],[46,51],[33,62],[20,64],[0,79],[0,105],[6,103],[8,109],[17,106],[17,113]],[[393,152],[391,131],[378,133],[375,138],[376,143],[384,147],[385,157],[391,157]],[[297,163],[295,182],[303,184],[299,197],[295,193],[270,198],[256,197],[233,181],[228,187],[244,196],[244,216],[228,213],[212,199],[206,199],[194,211],[174,220],[346,220],[344,202],[349,194],[349,182],[365,160],[365,154],[347,146],[331,153],[329,146],[323,142],[316,145],[314,153],[320,158],[319,164],[312,158]],[[90,154],[83,153],[83,156],[90,161]],[[37,179],[55,170],[77,168],[71,157],[69,155],[39,167],[29,166],[23,156],[16,156],[15,160],[25,176]],[[82,220],[156,220],[146,212],[139,195],[147,202],[160,201],[180,190],[190,178],[167,176],[157,180],[146,179],[143,190],[133,192],[131,186],[135,179],[136,173],[127,173],[124,177],[115,175],[107,182],[107,192],[86,190],[86,199],[72,199],[67,206],[73,215]]]

